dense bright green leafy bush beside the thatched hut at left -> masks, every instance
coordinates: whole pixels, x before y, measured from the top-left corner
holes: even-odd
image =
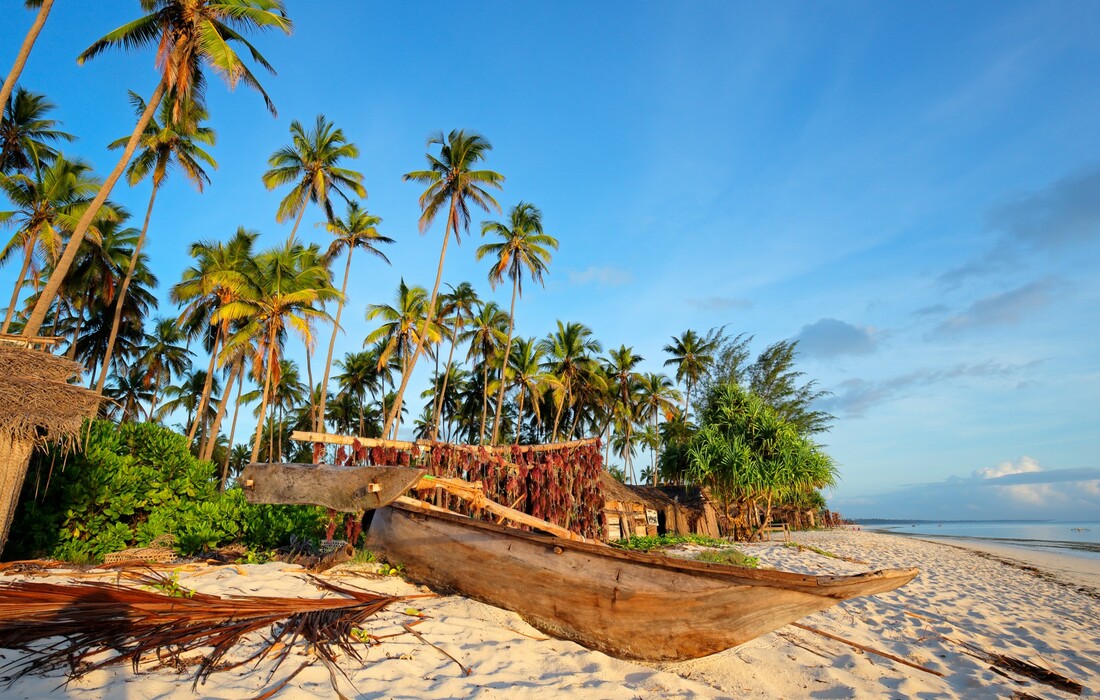
[[[160,425],[98,420],[86,436],[82,451],[32,464],[7,558],[98,561],[164,534],[184,555],[233,543],[270,550],[290,535],[320,537],[328,521],[322,508],[254,505],[240,489],[219,492],[215,466]]]

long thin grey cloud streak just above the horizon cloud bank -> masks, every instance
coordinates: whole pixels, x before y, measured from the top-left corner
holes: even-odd
[[[818,404],[823,411],[832,414],[859,417],[866,415],[872,406],[903,396],[921,386],[963,379],[1009,378],[1034,364],[1013,365],[990,361],[981,364],[960,363],[947,368],[925,368],[881,381],[854,378],[840,382],[833,395],[822,398]]]

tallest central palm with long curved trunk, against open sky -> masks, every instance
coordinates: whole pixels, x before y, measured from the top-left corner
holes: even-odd
[[[501,188],[504,176],[493,171],[474,171],[473,168],[485,155],[493,150],[493,146],[481,134],[465,132],[463,130],[451,131],[446,136],[439,132],[428,139],[428,146],[438,144],[440,146],[439,157],[431,153],[427,154],[428,169],[413,171],[406,173],[404,179],[427,184],[428,187],[420,195],[420,232],[424,233],[436,220],[436,215],[443,206],[448,206],[447,223],[443,227],[443,245],[439,250],[439,267],[436,271],[436,285],[431,288],[431,296],[428,299],[428,314],[425,317],[425,328],[431,325],[436,314],[436,299],[439,296],[439,283],[443,278],[443,261],[447,259],[447,241],[450,234],[454,233],[454,242],[459,243],[459,228],[470,230],[470,205],[473,204],[481,209],[488,211],[490,207],[501,210],[501,205],[490,195],[485,187]],[[383,433],[388,433],[397,417],[397,407],[402,405],[402,396],[405,395],[405,387],[408,386],[409,378],[416,368],[416,362],[420,358],[424,348],[422,339],[427,333],[421,332],[421,341],[417,343],[413,352],[413,361],[409,371],[402,376],[402,385],[397,389],[397,401],[394,404],[393,415],[386,416]]]

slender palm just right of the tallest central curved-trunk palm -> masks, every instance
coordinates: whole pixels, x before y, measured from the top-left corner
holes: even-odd
[[[508,223],[485,221],[482,236],[496,233],[502,240],[485,243],[477,249],[477,260],[492,255],[496,264],[488,272],[490,284],[495,289],[505,274],[512,280],[512,307],[508,311],[508,341],[504,344],[504,357],[512,352],[512,333],[516,324],[516,296],[524,294],[524,271],[531,280],[542,283],[542,275],[550,263],[550,250],[558,250],[558,239],[542,231],[542,212],[532,204],[520,201],[508,214]],[[501,436],[501,411],[504,407],[505,382],[496,397],[496,416],[493,419],[493,445]]]

